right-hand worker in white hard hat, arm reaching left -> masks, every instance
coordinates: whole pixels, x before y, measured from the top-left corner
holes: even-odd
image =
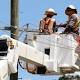
[[[66,10],[65,14],[68,16],[68,21],[64,25],[60,25],[62,27],[65,27],[65,30],[63,33],[76,33],[79,34],[79,17],[77,15],[77,9],[73,5],[69,5]]]

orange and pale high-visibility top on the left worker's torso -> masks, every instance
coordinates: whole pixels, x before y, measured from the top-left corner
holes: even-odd
[[[46,17],[40,21],[39,30],[44,34],[51,34],[54,32],[55,25],[56,25],[55,19]]]

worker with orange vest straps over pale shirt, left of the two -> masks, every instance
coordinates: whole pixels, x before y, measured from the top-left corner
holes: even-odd
[[[45,11],[45,17],[40,21],[39,32],[43,34],[51,34],[55,32],[56,20],[52,19],[54,15],[57,15],[54,9],[49,8]]]

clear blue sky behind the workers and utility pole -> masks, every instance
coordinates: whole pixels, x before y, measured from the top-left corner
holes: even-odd
[[[3,27],[10,25],[10,0],[0,1],[0,27]],[[57,12],[58,15],[55,16],[57,24],[64,23],[67,19],[64,10],[70,4],[78,9],[80,15],[80,0],[19,0],[19,26],[30,23],[32,28],[38,28],[39,21],[48,8],[53,8]],[[54,76],[37,76],[25,73],[21,69],[19,71],[22,77],[24,74],[30,80],[55,80]]]

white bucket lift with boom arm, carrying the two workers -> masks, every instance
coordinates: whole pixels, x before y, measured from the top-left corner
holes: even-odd
[[[34,74],[66,74],[79,70],[78,46],[72,34],[39,35],[27,34],[26,43],[0,36],[0,80],[10,80],[11,73],[17,72],[18,60]]]

